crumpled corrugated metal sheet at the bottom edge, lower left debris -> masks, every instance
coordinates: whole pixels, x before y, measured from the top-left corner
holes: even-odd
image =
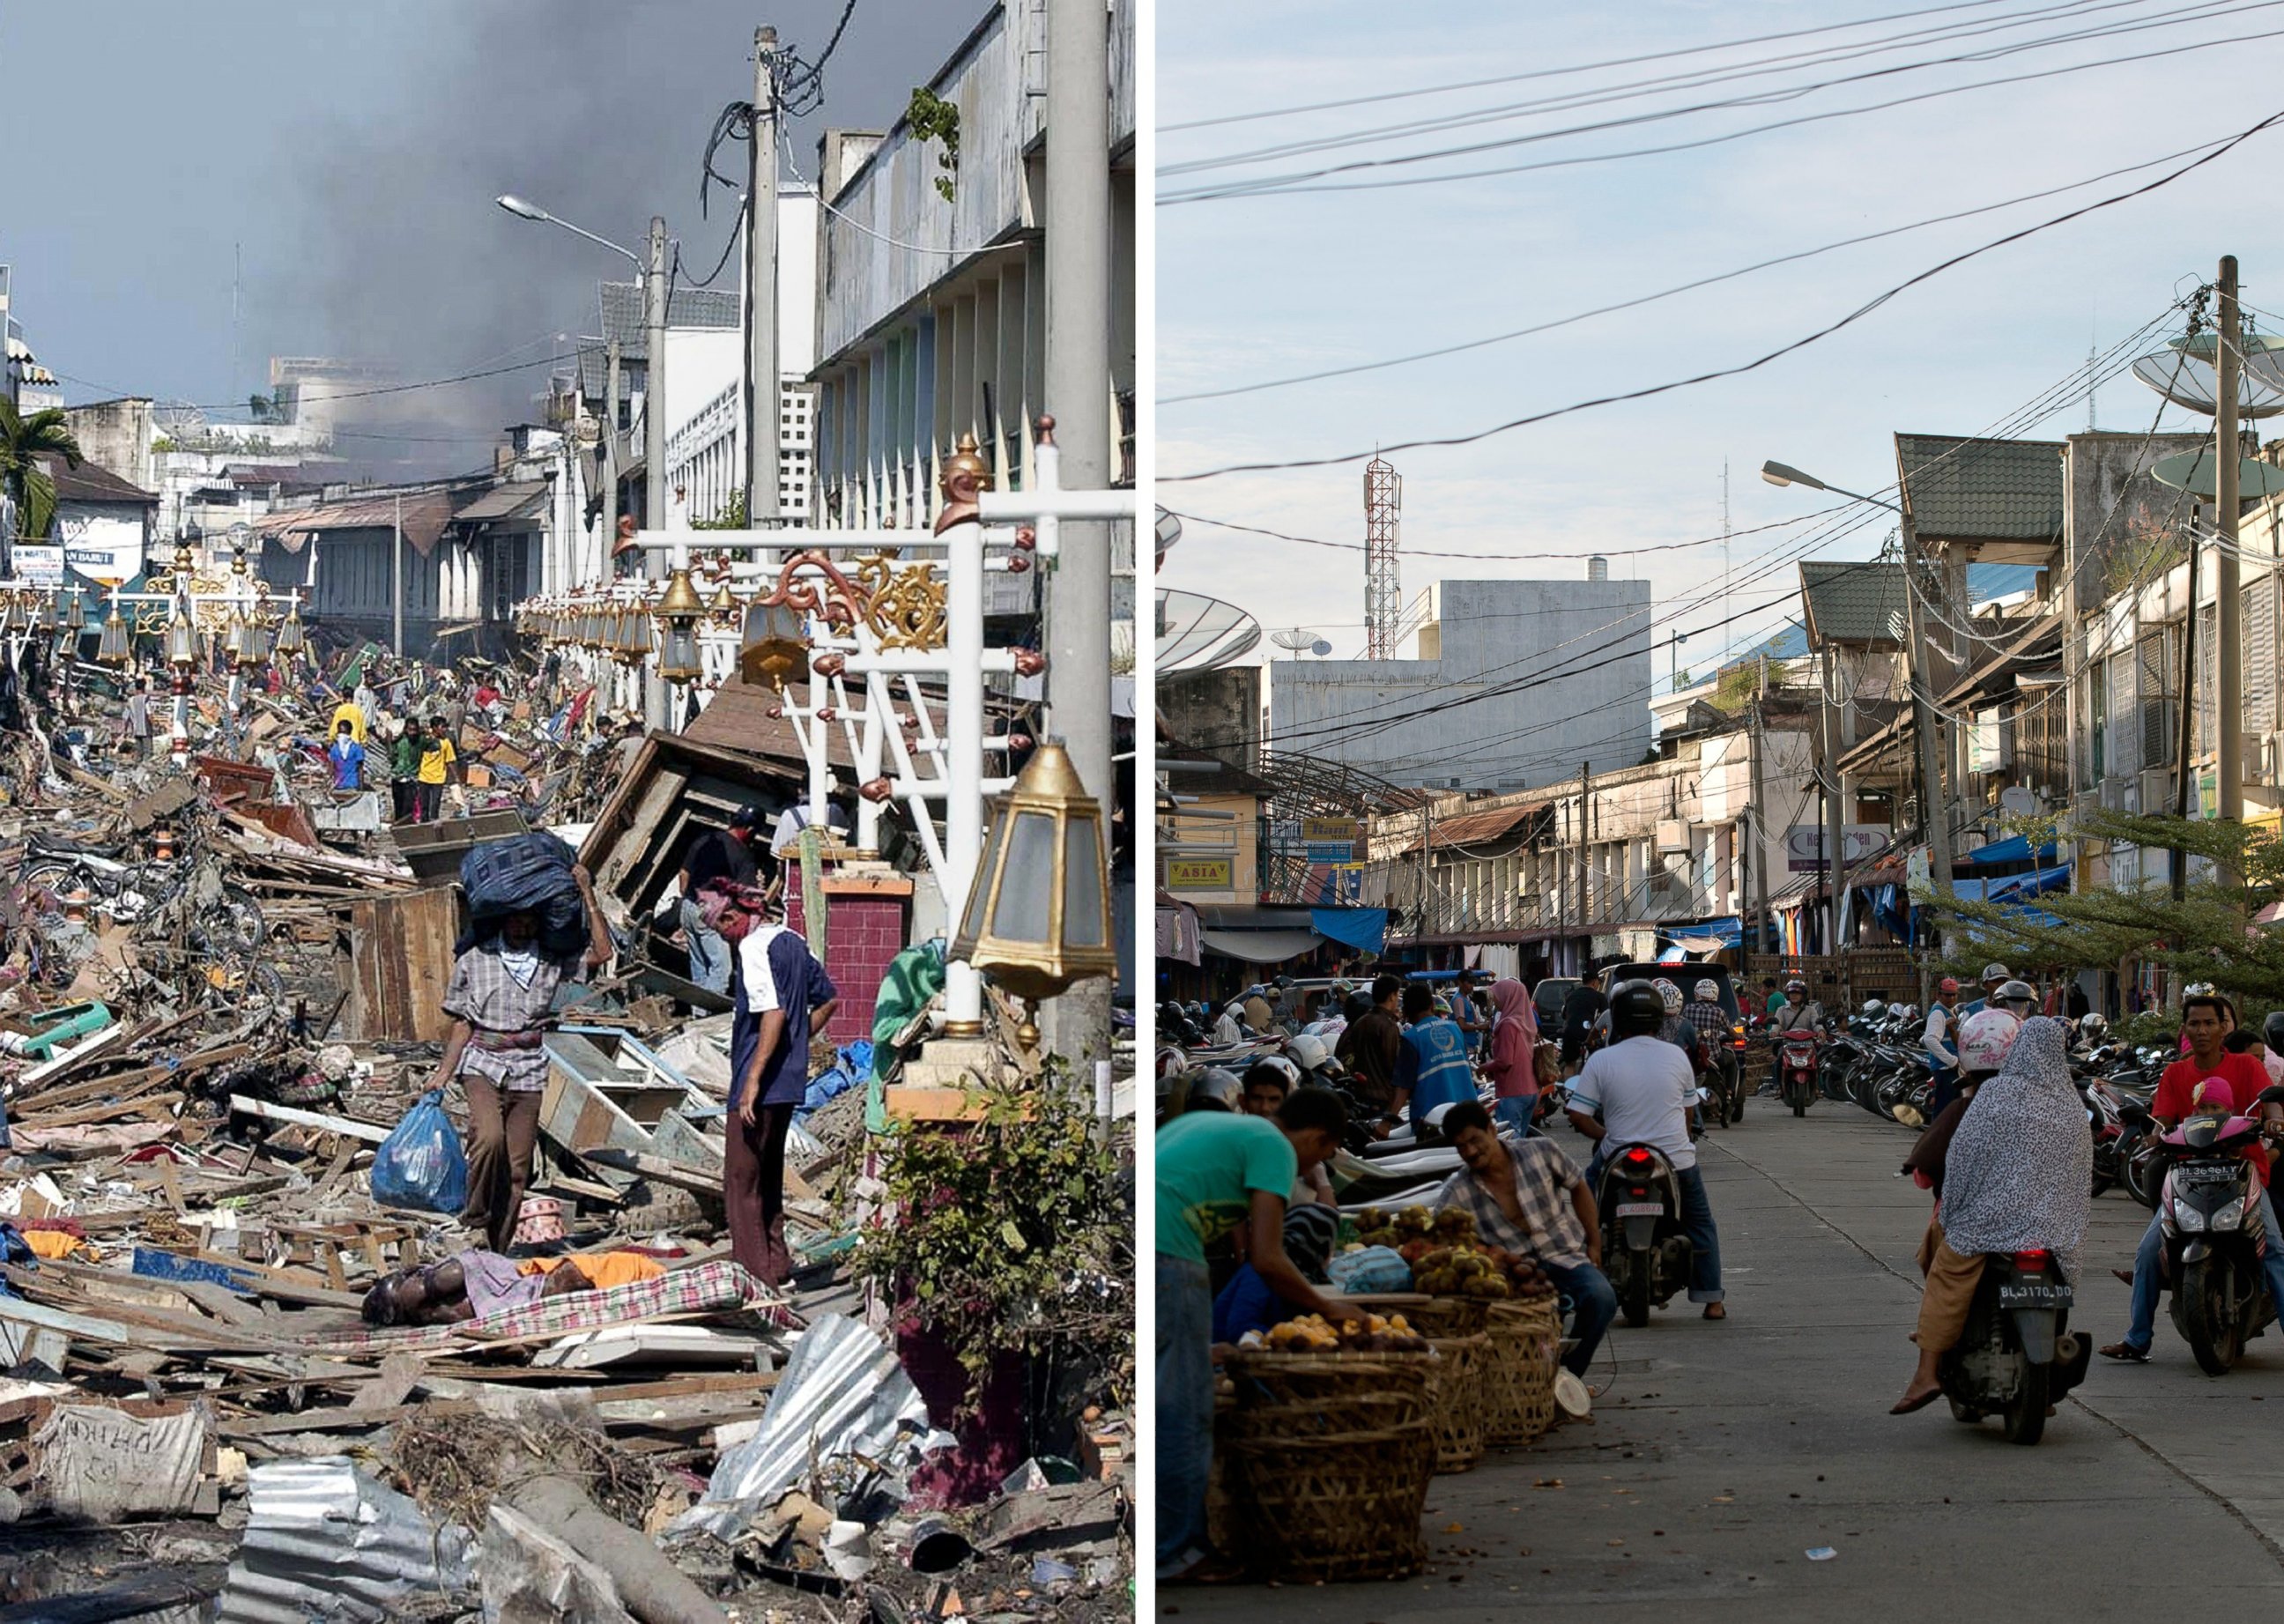
[[[402,1617],[411,1594],[473,1583],[468,1533],[439,1533],[345,1455],[256,1466],[247,1498],[251,1519],[215,1624],[381,1624]]]

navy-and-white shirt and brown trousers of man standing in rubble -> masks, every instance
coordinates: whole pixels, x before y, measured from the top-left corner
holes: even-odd
[[[738,939],[733,991],[722,1201],[731,1256],[756,1279],[781,1286],[793,1275],[786,1131],[809,1092],[809,1035],[831,1023],[841,994],[806,941],[761,920]]]

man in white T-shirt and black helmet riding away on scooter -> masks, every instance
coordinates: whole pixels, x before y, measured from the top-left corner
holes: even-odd
[[[1702,1302],[1708,1320],[1724,1320],[1729,1309],[1722,1307],[1720,1231],[1690,1137],[1697,1078],[1688,1055],[1658,1037],[1663,1026],[1665,1000],[1658,989],[1644,980],[1619,982],[1610,991],[1610,1044],[1597,1048],[1571,1083],[1569,1119],[1594,1140],[1590,1185],[1601,1179],[1603,1147],[1649,1144],[1665,1153],[1681,1183],[1681,1227],[1692,1249],[1690,1302]]]

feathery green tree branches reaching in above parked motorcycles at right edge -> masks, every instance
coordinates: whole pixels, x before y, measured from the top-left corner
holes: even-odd
[[[2284,898],[2284,841],[2275,831],[2204,818],[2090,813],[2058,834],[2181,852],[2190,859],[2190,879],[2181,900],[2168,879],[2142,879],[2042,895],[2028,909],[1919,891],[1914,895],[1944,923],[1951,943],[1944,968],[1964,982],[1987,959],[2067,971],[2140,959],[2181,980],[2213,982],[2241,1010],[2284,1005],[2284,932],[2254,923]]]

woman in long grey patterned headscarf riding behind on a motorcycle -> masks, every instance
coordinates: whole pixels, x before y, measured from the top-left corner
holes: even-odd
[[[2060,1021],[2033,1016],[1951,1135],[1939,1236],[1919,1297],[1919,1370],[1891,1414],[1907,1416],[1941,1396],[1937,1366],[1967,1329],[1987,1254],[2051,1252],[2062,1279],[2078,1279],[2092,1176],[2094,1144],[2069,1080],[2069,1037]]]

